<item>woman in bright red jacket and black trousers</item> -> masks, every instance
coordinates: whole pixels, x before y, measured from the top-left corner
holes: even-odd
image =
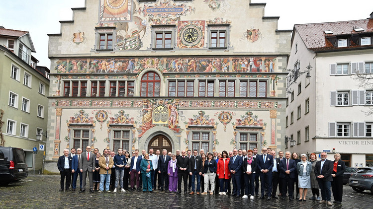
[[[219,195],[227,195],[228,182],[231,178],[231,173],[228,169],[229,157],[227,151],[221,152],[221,157],[218,160],[218,168],[216,171],[217,176],[219,177],[220,191]]]

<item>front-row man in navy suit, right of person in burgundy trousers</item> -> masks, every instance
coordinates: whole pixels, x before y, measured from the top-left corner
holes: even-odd
[[[273,157],[270,154],[267,154],[267,148],[262,148],[262,155],[257,157],[258,170],[260,184],[261,184],[261,193],[262,196],[259,199],[264,199],[264,193],[267,189],[267,200],[271,200],[272,197],[272,168],[273,168]]]

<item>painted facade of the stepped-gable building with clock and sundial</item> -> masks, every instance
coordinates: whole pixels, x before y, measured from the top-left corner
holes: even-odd
[[[49,34],[64,148],[283,148],[289,30],[250,0],[89,0]]]

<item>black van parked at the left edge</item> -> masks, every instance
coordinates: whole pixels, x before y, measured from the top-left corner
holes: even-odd
[[[0,184],[27,178],[26,157],[21,148],[0,146]]]

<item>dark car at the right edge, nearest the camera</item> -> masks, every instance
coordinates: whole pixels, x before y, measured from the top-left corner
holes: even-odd
[[[356,192],[370,190],[373,193],[373,167],[361,167],[351,174],[349,186]]]

